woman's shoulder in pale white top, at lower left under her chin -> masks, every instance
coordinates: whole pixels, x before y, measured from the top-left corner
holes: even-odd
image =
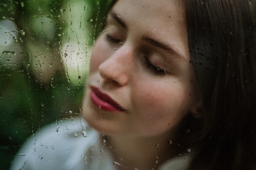
[[[80,119],[49,124],[26,140],[10,169],[58,169],[70,155],[81,155],[89,150],[98,140],[97,134]]]

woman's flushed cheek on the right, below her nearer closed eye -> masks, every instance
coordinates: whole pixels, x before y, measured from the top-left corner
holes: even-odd
[[[134,112],[143,122],[151,125],[165,122],[168,125],[167,122],[171,123],[189,111],[189,92],[182,83],[154,80],[138,83],[135,89]]]

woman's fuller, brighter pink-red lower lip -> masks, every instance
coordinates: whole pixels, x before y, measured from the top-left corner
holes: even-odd
[[[99,109],[104,111],[120,112],[115,106],[100,99],[99,96],[97,96],[93,91],[90,92],[90,99]]]

